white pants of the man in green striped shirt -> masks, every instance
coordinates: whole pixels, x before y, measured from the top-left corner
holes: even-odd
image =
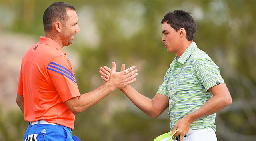
[[[175,141],[175,139],[173,141]],[[212,128],[198,130],[189,129],[183,141],[217,141],[217,137]]]

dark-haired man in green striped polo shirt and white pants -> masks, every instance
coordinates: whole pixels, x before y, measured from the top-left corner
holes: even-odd
[[[216,112],[232,103],[218,66],[194,42],[196,22],[188,12],[174,10],[162,19],[162,41],[176,57],[151,100],[132,86],[120,89],[138,108],[152,118],[169,107],[170,128],[180,141],[217,141]],[[124,64],[122,70],[124,70]],[[108,81],[110,68],[100,74]]]

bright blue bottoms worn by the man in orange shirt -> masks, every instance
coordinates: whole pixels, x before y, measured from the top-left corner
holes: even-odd
[[[23,141],[28,137],[35,137],[37,141],[74,141],[70,128],[62,125],[35,124],[28,125]]]

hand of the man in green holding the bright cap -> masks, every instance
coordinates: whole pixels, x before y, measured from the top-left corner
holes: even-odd
[[[191,123],[188,120],[188,118],[186,116],[183,117],[182,119],[178,120],[178,122],[172,129],[171,134],[174,133],[176,129],[178,129],[177,133],[174,134],[174,137],[177,137],[178,135],[180,135],[180,141],[183,141],[184,135],[188,133],[190,124]]]

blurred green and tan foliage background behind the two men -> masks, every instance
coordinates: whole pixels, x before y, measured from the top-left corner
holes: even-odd
[[[22,56],[44,36],[47,0],[0,0],[0,140],[20,141],[28,122],[16,105]],[[73,64],[80,93],[102,85],[101,66],[136,65],[132,86],[153,98],[175,54],[161,42],[167,12],[191,12],[195,41],[220,67],[232,105],[216,115],[219,141],[256,140],[256,1],[255,0],[66,0],[76,7],[81,32],[64,47]],[[76,115],[73,135],[82,141],[152,141],[170,130],[165,111],[151,119],[116,90]]]

